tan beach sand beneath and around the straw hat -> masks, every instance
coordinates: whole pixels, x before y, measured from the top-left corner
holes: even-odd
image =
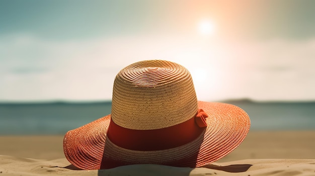
[[[250,131],[224,158],[201,168],[138,164],[78,170],[63,136],[0,136],[1,175],[315,175],[315,131]]]

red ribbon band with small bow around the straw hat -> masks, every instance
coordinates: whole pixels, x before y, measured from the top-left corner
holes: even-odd
[[[110,121],[107,136],[115,145],[125,149],[153,151],[178,147],[196,139],[207,126],[208,115],[202,110],[191,119],[166,128],[137,130],[128,129]]]

